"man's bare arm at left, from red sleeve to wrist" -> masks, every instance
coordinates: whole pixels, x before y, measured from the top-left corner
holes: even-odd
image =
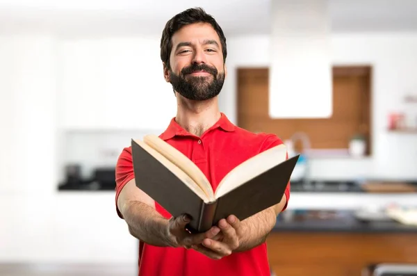
[[[156,211],[154,200],[136,187],[135,179],[127,182],[120,191],[117,208],[132,236],[150,245],[171,245],[167,238],[168,220]]]

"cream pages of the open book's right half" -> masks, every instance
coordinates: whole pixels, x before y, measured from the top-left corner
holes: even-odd
[[[229,193],[234,188],[245,184],[245,182],[269,170],[270,168],[286,161],[287,149],[286,145],[281,144],[253,156],[247,161],[240,163],[233,170],[231,170],[220,181],[220,184],[215,191],[215,198],[221,197]]]

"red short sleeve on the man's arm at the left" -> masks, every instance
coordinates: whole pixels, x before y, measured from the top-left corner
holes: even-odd
[[[120,218],[122,217],[122,213],[120,213],[120,210],[117,208],[117,198],[120,195],[120,192],[122,191],[122,188],[124,185],[126,185],[127,182],[131,181],[135,177],[135,174],[133,173],[133,161],[132,161],[132,152],[131,147],[125,147],[120,154],[119,158],[117,159],[116,164],[116,211],[117,215]]]

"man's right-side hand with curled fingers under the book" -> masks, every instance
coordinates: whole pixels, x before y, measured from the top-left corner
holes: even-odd
[[[222,259],[229,256],[239,247],[239,236],[242,231],[240,220],[236,216],[229,216],[219,221],[221,232],[213,238],[204,238],[201,245],[193,245],[193,249],[205,254],[211,259]]]

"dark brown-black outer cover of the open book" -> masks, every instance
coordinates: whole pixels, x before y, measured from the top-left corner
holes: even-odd
[[[299,157],[294,156],[254,176],[216,202],[204,204],[181,179],[133,140],[131,147],[136,186],[172,216],[190,215],[191,232],[205,232],[231,214],[244,220],[279,203]]]

